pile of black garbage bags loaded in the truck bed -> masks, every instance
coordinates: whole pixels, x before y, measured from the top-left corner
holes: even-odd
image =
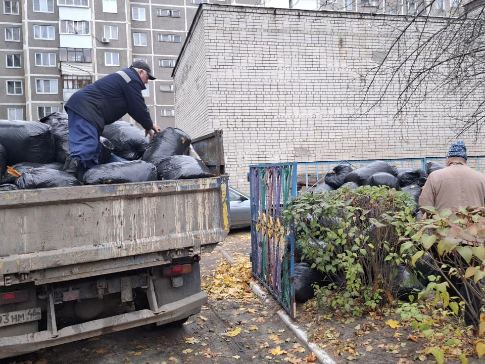
[[[70,155],[67,114],[0,120],[0,192],[213,176],[193,153],[190,136],[176,127],[150,140],[144,130],[118,120],[106,125],[100,140],[99,165],[79,180],[62,171]]]

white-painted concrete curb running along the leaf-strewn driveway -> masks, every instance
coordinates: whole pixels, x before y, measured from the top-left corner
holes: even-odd
[[[220,251],[224,257],[229,260],[230,264],[234,264],[235,260],[232,259],[231,255],[221,247],[216,247],[216,250]],[[261,289],[261,287],[255,283],[255,282],[250,282],[249,286],[253,290],[254,294],[262,301],[265,303],[271,303],[271,300],[267,297],[266,292]],[[317,357],[317,360],[321,364],[335,364],[335,361],[323,350],[319,349],[317,345],[315,345],[312,342],[308,341],[308,337],[305,334],[304,331],[302,331],[297,325],[295,325],[290,319],[290,317],[286,314],[284,310],[279,310],[277,312],[278,317],[280,320],[286,325],[286,327],[289,330],[292,330],[292,332],[295,334],[295,336],[303,343],[305,348],[308,351],[311,351],[315,354]]]

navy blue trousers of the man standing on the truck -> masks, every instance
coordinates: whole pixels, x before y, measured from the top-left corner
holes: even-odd
[[[68,110],[69,147],[71,158],[81,162],[83,169],[99,164],[101,141],[98,129],[78,113]]]

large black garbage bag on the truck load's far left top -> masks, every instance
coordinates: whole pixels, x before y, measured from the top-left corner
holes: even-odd
[[[38,121],[0,120],[0,144],[7,150],[7,164],[50,163],[56,143],[50,125]]]

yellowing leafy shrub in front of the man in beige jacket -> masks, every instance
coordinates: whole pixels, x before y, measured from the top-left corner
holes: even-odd
[[[459,313],[465,302],[465,323],[485,334],[483,315],[485,284],[485,207],[436,211],[424,208],[423,218],[409,224],[416,253],[411,259],[417,269],[430,274],[426,290],[435,292],[435,304]],[[428,257],[422,259],[422,257]]]

